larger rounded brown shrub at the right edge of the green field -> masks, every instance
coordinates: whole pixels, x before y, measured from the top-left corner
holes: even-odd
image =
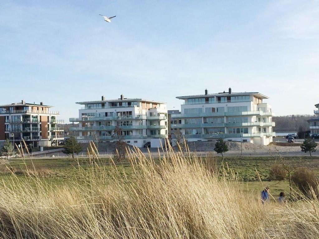
[[[291,179],[305,196],[311,197],[311,188],[317,193],[318,178],[313,171],[299,168],[293,173]]]

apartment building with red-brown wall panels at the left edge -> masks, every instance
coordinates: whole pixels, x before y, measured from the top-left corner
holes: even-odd
[[[63,120],[57,120],[59,112],[50,111],[52,106],[20,103],[0,105],[0,142],[9,138],[20,141],[22,138],[33,147],[51,146],[52,141],[64,139],[64,128],[58,127]]]

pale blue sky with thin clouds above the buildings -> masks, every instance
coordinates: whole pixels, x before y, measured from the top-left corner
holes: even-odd
[[[98,14],[114,16],[112,23]],[[0,2],[0,104],[258,91],[277,115],[319,103],[319,1]]]

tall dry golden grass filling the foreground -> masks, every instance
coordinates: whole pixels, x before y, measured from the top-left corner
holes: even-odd
[[[93,148],[91,172],[78,166],[83,174],[72,185],[53,188],[38,177],[2,182],[1,238],[319,236],[318,201],[262,205],[227,166],[216,170],[215,164],[171,148],[159,161],[128,149],[135,173],[129,177],[112,163],[107,176]]]

